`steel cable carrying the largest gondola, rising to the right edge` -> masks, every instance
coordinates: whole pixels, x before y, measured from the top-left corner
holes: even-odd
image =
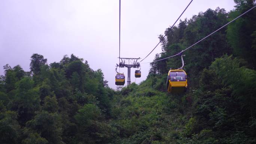
[[[174,57],[174,56],[177,56],[177,55],[181,55],[184,51],[188,50],[189,48],[191,48],[192,46],[198,44],[199,42],[201,42],[202,40],[206,39],[207,37],[211,36],[212,34],[216,33],[217,31],[219,31],[220,29],[222,29],[223,27],[226,27],[228,24],[230,24],[231,22],[235,21],[236,19],[240,18],[241,16],[243,16],[244,14],[246,14],[247,12],[249,12],[250,10],[254,9],[256,6],[253,6],[251,9],[247,10],[246,12],[242,13],[241,15],[237,16],[237,18],[233,19],[232,21],[228,22],[227,24],[223,25],[222,27],[220,27],[219,29],[217,29],[216,31],[212,32],[211,34],[209,34],[208,36],[204,37],[203,39],[199,40],[198,42],[194,43],[193,45],[189,46],[188,48],[182,50],[181,52],[177,53],[176,55],[172,55],[172,56],[169,56],[167,58],[171,58],[171,57]],[[164,59],[167,59],[167,58],[163,58],[163,59],[158,59],[156,61],[162,61]],[[152,61],[152,62],[156,62],[156,61]],[[147,63],[152,63],[152,62],[144,62],[144,63],[141,63],[141,64],[147,64]]]

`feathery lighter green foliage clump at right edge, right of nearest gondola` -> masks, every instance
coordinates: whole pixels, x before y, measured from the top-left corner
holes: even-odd
[[[255,109],[253,103],[256,102],[256,71],[241,67],[240,63],[240,59],[225,56],[216,59],[210,68],[216,71],[224,86],[231,86],[232,95],[239,99],[244,107]]]

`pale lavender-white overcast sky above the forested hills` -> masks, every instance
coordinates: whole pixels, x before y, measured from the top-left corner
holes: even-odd
[[[121,0],[121,57],[144,58],[159,42],[158,35],[173,25],[190,0]],[[181,19],[208,8],[234,9],[233,0],[193,0]],[[93,70],[102,69],[115,88],[119,62],[119,0],[1,0],[0,75],[3,65],[29,71],[30,56],[39,53],[48,64],[65,54],[84,58]],[[143,62],[153,60],[161,46]],[[149,64],[141,65],[145,80]],[[135,81],[135,69],[131,81]],[[127,76],[127,68],[121,68]],[[127,85],[127,82],[125,82]]]

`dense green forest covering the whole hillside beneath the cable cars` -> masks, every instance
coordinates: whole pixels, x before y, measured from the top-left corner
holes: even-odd
[[[241,13],[208,9],[167,28],[155,60],[187,48]],[[162,39],[163,36],[159,36]],[[30,70],[6,64],[0,77],[1,144],[255,144],[256,9],[184,52],[188,91],[169,94],[180,57],[151,63],[147,79],[113,90],[99,69],[65,55]]]

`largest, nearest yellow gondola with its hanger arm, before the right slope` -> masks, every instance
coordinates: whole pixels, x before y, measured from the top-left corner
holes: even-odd
[[[186,72],[182,69],[184,67],[183,55],[182,67],[176,70],[170,70],[167,77],[166,87],[167,91],[172,94],[180,94],[188,88],[188,79]]]

